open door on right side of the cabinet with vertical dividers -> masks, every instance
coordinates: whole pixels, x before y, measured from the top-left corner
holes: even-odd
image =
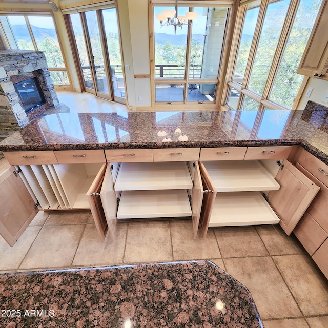
[[[91,214],[94,219],[94,223],[96,224],[96,228],[99,234],[101,241],[105,240],[108,226],[107,220],[105,216],[105,212],[103,209],[103,204],[101,203],[100,193],[101,186],[103,185],[103,180],[106,173],[107,164],[104,163],[95,179],[90,186],[90,189],[87,192],[87,197],[90,205]]]

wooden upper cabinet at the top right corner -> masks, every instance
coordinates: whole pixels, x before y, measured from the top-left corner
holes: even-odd
[[[323,0],[297,73],[328,80],[328,0]]]

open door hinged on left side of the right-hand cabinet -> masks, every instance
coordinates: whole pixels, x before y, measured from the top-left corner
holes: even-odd
[[[216,197],[216,189],[213,185],[210,176],[206,171],[206,168],[204,167],[201,161],[199,162],[199,169],[200,169],[200,176],[204,189],[199,223],[201,229],[201,236],[205,237],[209,229],[209,223],[210,223],[213,205]]]

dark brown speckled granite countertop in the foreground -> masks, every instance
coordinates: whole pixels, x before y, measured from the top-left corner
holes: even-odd
[[[210,261],[2,274],[0,295],[16,310],[4,327],[263,328],[250,292]]]

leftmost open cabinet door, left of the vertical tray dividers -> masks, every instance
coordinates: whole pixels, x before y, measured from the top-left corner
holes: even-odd
[[[9,167],[0,175],[0,234],[12,247],[37,213],[24,182]]]

